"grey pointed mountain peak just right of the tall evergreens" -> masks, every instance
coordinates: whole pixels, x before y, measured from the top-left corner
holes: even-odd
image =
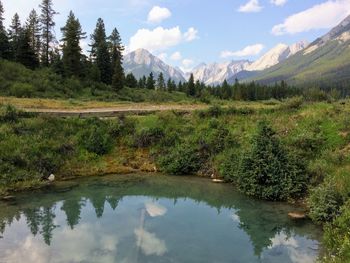
[[[167,65],[146,49],[138,49],[127,54],[124,57],[123,65],[125,73],[128,74],[131,72],[137,79],[148,76],[151,72],[157,78],[162,72],[165,80],[171,78],[175,82],[185,81],[183,73],[180,70]]]

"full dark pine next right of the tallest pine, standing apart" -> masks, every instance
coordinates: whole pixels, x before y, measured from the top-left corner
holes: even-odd
[[[80,22],[70,11],[66,25],[61,28],[62,31],[62,62],[66,76],[80,77],[81,72],[81,47],[80,40],[85,38]]]

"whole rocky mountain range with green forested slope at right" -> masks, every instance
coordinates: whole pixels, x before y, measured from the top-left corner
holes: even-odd
[[[124,68],[136,78],[151,72],[158,76],[162,72],[165,79],[176,82],[186,81],[192,73],[195,80],[207,85],[218,85],[225,79],[233,83],[236,78],[265,84],[281,80],[295,85],[345,83],[350,80],[350,16],[311,44],[306,41],[290,46],[280,43],[256,61],[201,63],[192,72],[184,73],[147,50],[139,49],[125,56]]]

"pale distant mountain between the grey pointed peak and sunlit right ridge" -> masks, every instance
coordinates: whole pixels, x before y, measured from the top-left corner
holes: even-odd
[[[251,62],[248,60],[231,61],[225,63],[201,63],[192,71],[195,80],[204,82],[207,85],[221,84],[238,72],[244,70]]]

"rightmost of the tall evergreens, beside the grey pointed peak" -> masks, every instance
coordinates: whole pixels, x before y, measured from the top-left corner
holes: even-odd
[[[116,28],[113,29],[112,34],[108,38],[111,53],[111,63],[114,68],[112,85],[115,90],[124,87],[124,68],[123,68],[123,51],[124,46],[119,32]]]

